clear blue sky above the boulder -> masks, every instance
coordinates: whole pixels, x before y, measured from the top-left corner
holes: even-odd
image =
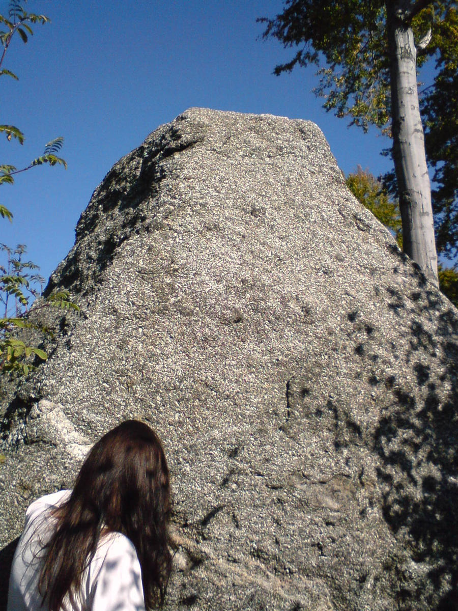
[[[0,13],[8,2],[0,0]],[[358,164],[378,175],[389,145],[347,128],[321,108],[314,70],[272,75],[290,59],[275,40],[263,42],[258,16],[274,16],[281,0],[29,0],[52,23],[35,26],[24,45],[12,43],[0,79],[0,123],[16,125],[21,147],[0,139],[0,163],[23,167],[56,136],[64,136],[62,167],[37,167],[2,185],[0,241],[27,244],[47,277],[75,241],[75,225],[111,166],[159,125],[191,106],[271,113],[319,125],[341,169]]]

